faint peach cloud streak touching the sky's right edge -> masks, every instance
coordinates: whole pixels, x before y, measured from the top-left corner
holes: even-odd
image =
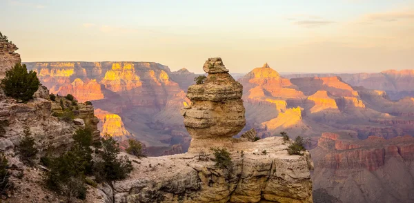
[[[366,14],[362,17],[362,23],[373,23],[375,21],[393,22],[404,19],[414,19],[414,11],[400,11],[400,12],[377,12]]]

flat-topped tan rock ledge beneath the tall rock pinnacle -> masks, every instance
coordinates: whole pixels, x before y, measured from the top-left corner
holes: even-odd
[[[309,153],[288,155],[282,137],[233,139],[233,168],[220,169],[207,153],[141,160],[127,180],[100,186],[94,202],[312,202]]]

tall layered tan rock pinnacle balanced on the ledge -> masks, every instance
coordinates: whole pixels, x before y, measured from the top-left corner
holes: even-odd
[[[184,126],[193,138],[190,152],[231,147],[231,137],[246,124],[242,84],[228,74],[221,58],[208,59],[203,70],[208,73],[206,81],[188,87],[187,97],[193,104],[181,111]]]

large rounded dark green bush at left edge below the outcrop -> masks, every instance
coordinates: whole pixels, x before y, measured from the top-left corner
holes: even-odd
[[[4,93],[14,99],[26,102],[33,98],[33,94],[39,88],[40,81],[36,72],[28,72],[26,65],[16,64],[11,70],[6,71],[6,77],[1,81]]]

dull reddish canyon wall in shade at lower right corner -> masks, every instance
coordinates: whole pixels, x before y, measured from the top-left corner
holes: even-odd
[[[314,189],[342,202],[413,202],[414,138],[363,141],[344,133],[324,133],[313,149]]]

